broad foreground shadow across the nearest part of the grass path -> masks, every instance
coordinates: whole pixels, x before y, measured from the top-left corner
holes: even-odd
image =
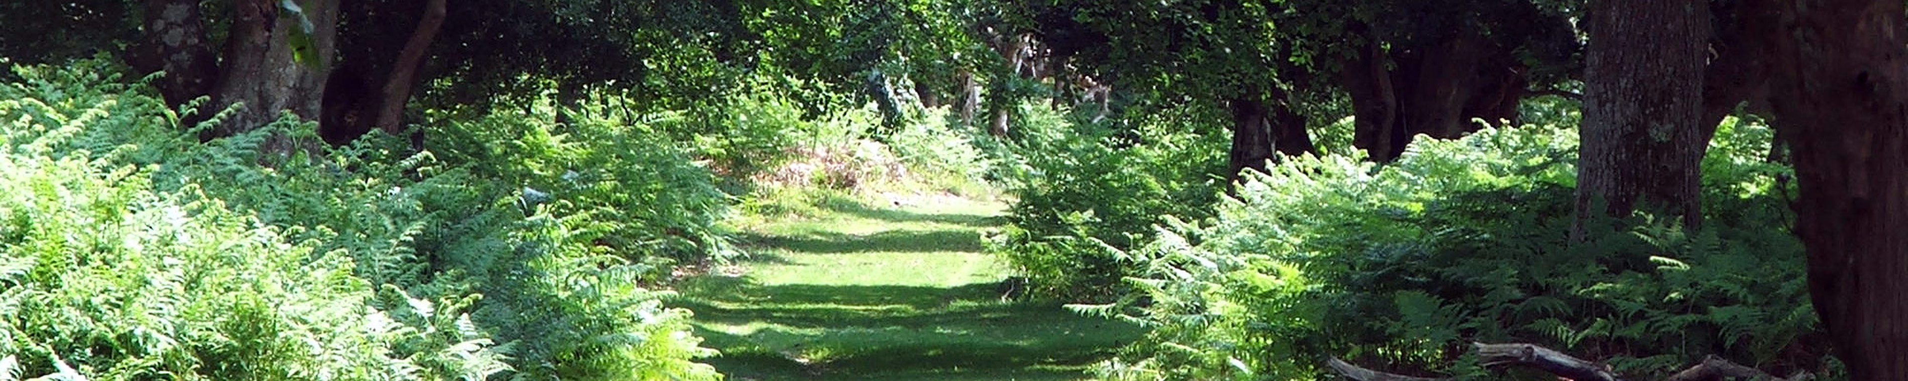
[[[683,295],[675,305],[696,311],[698,335],[723,351],[710,362],[733,379],[1080,379],[1141,333],[1059,305],[1000,301],[998,284],[696,278]]]

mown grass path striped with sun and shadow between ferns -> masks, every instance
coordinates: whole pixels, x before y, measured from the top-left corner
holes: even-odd
[[[981,253],[1000,204],[946,198],[754,227],[744,276],[683,284],[710,358],[733,381],[1088,379],[1139,330],[1059,305],[1002,301]]]

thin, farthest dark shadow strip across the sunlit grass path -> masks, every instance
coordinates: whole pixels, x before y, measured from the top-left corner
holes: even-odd
[[[981,251],[977,231],[883,231],[874,234],[805,232],[771,236],[742,232],[750,246],[782,248],[798,253],[866,253],[866,251]]]

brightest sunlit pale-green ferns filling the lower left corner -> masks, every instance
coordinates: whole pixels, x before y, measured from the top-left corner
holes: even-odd
[[[34,82],[0,90],[10,120],[0,354],[11,360],[0,373],[483,379],[508,370],[477,331],[420,337],[433,328],[382,318],[353,257],[296,238],[303,229],[265,225],[198,185],[158,190],[151,166],[126,164],[139,147],[73,149],[99,143],[78,139],[99,128],[155,122],[139,110],[155,99],[105,93],[122,86],[86,70],[17,74]]]

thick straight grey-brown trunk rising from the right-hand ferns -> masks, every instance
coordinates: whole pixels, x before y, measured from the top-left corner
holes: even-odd
[[[1708,8],[1700,0],[1589,2],[1576,213],[1629,215],[1639,202],[1700,223],[1698,164]],[[1591,210],[1605,202],[1605,210]]]

